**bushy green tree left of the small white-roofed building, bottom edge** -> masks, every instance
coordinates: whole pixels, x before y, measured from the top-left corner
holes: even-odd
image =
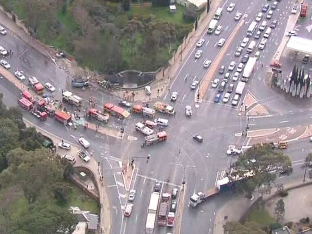
[[[12,221],[8,233],[68,234],[77,224],[77,218],[67,209],[36,203]]]

